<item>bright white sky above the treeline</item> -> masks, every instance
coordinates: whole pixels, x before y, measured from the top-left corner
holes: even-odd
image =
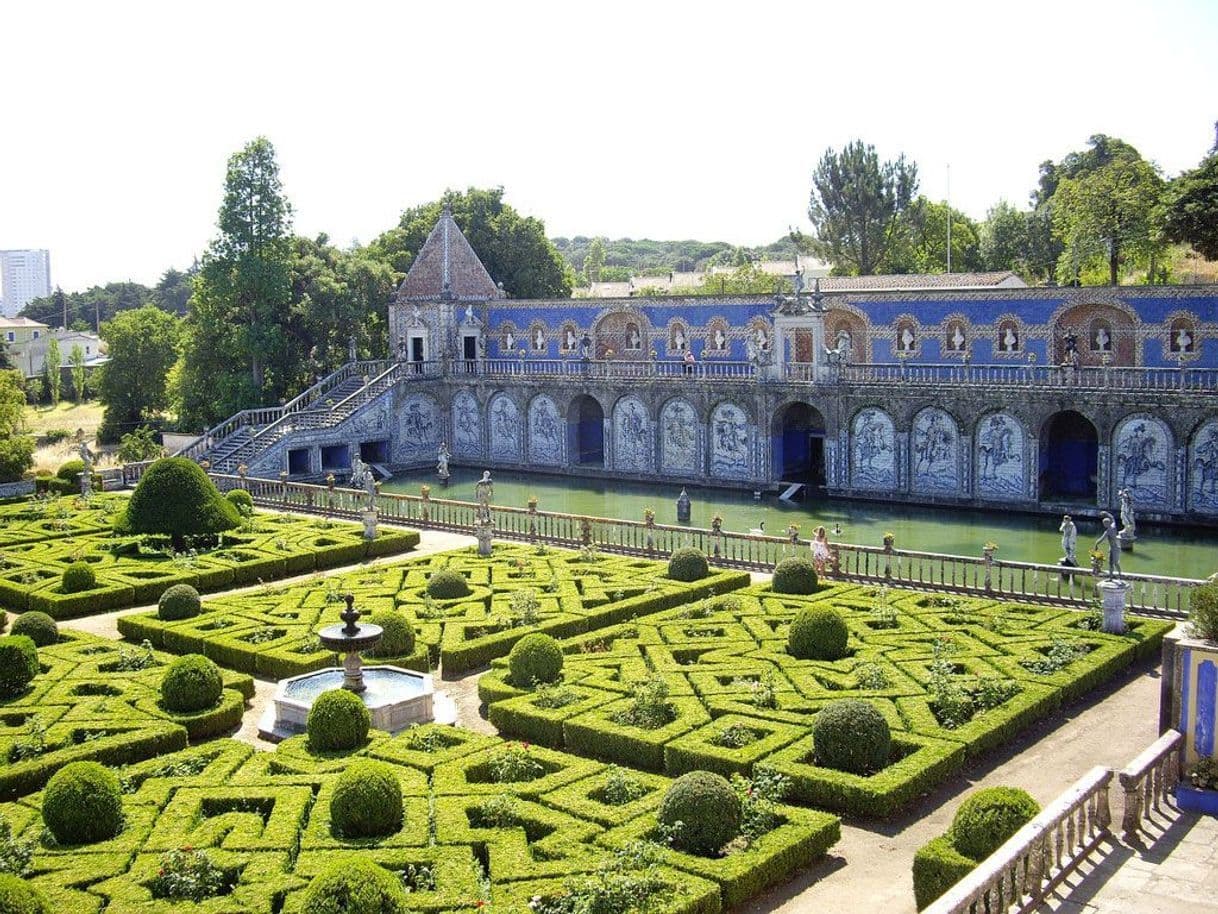
[[[214,234],[278,151],[296,228],[369,240],[502,184],[551,235],[764,244],[861,136],[976,218],[1093,133],[1174,174],[1218,119],[1218,2],[63,2],[0,18],[0,247],[79,289]]]

